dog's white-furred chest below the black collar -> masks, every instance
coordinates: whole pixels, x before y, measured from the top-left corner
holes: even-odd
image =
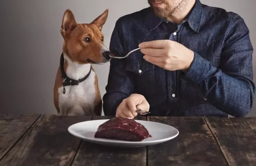
[[[84,109],[91,111],[94,109],[94,101],[96,97],[95,90],[95,72],[91,72],[90,76],[79,85],[65,86],[66,93],[63,93],[63,87],[59,88],[59,104],[60,109],[72,110]]]

